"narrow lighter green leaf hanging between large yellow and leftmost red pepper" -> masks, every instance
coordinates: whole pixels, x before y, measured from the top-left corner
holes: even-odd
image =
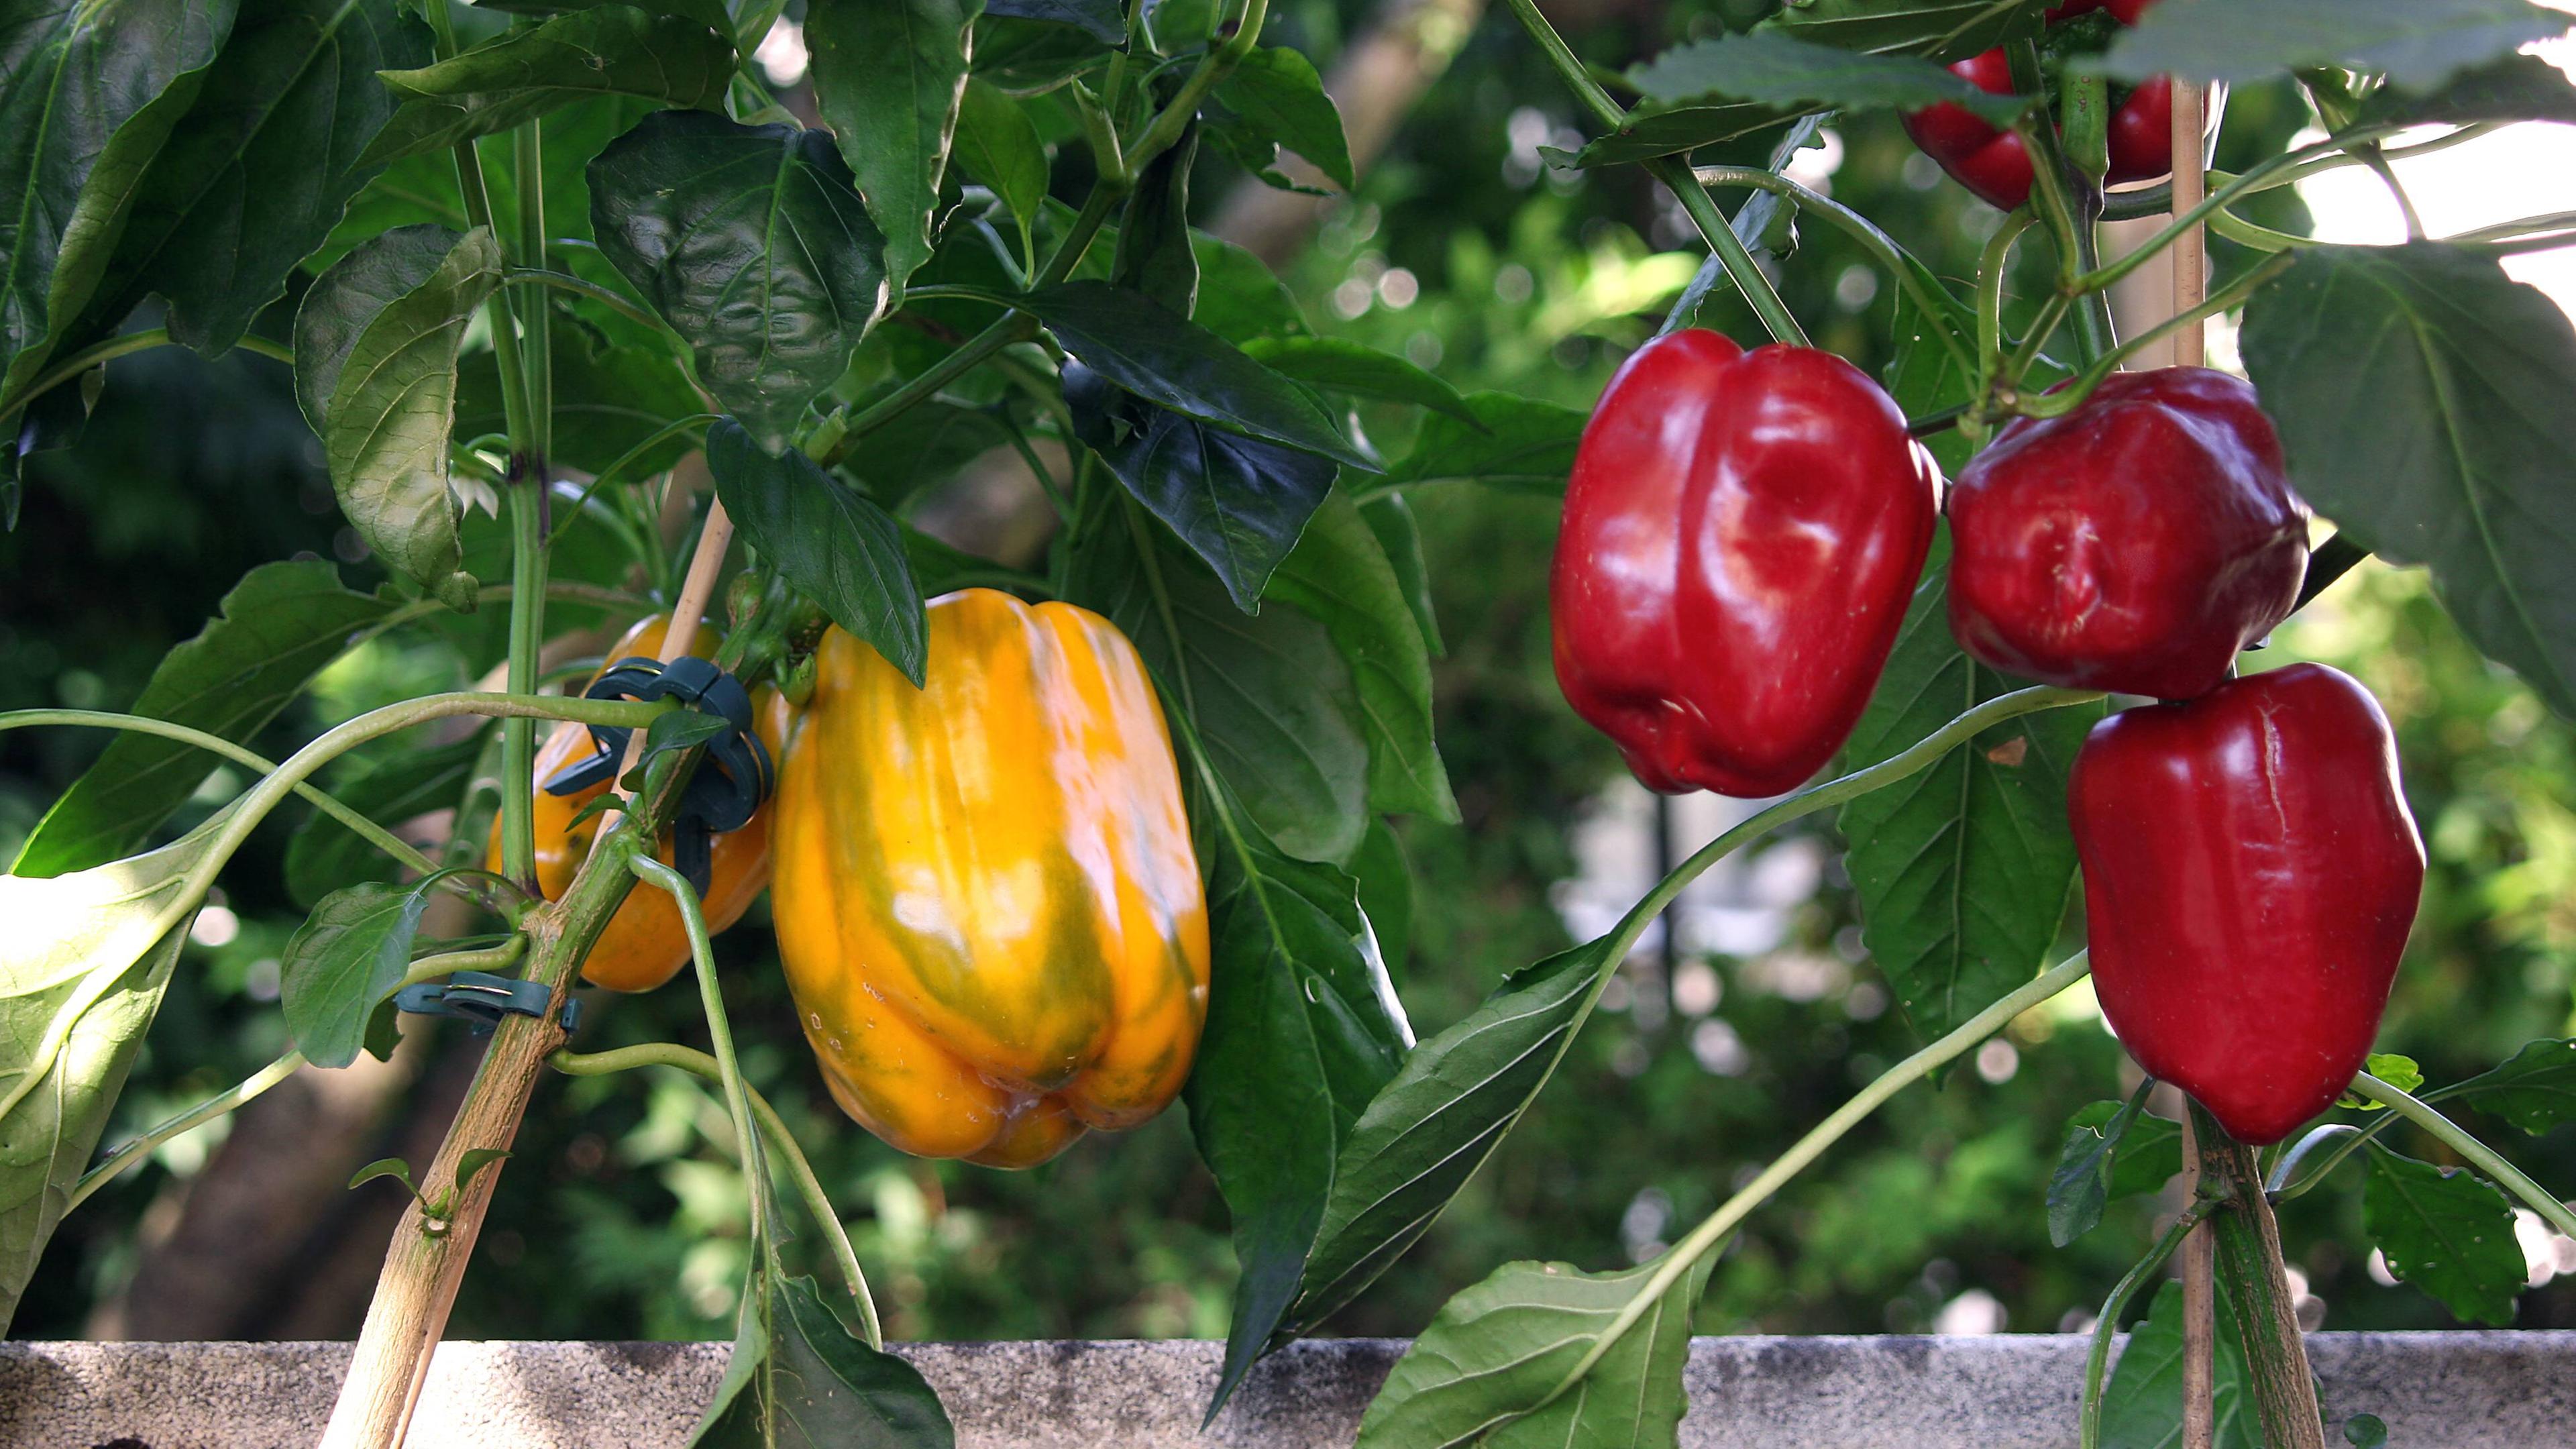
[[[1386,549],[1345,492],[1329,492],[1296,549],[1270,575],[1270,598],[1324,621],[1360,688],[1368,732],[1368,804],[1455,825],[1440,745],[1432,740],[1432,660]]]

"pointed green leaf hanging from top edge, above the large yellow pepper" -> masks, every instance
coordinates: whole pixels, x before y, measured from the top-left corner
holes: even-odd
[[[966,93],[966,26],[979,0],[811,0],[814,103],[886,235],[886,273],[930,260],[930,222]]]

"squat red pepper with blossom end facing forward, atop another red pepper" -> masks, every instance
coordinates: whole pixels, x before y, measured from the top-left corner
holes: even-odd
[[[1950,632],[2069,688],[2190,699],[2290,616],[2308,505],[2254,389],[2223,371],[2112,374],[2020,418],[1950,487]]]

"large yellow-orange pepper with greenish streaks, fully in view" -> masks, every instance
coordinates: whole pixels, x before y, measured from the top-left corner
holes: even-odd
[[[1208,902],[1136,647],[1069,603],[930,603],[927,688],[824,634],[778,779],[770,910],[840,1106],[1028,1168],[1190,1075]]]

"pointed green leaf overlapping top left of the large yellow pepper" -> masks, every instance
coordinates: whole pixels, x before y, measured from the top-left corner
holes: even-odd
[[[706,431],[706,472],[734,526],[788,583],[922,683],[930,621],[894,516],[793,449],[768,454],[732,418]]]

